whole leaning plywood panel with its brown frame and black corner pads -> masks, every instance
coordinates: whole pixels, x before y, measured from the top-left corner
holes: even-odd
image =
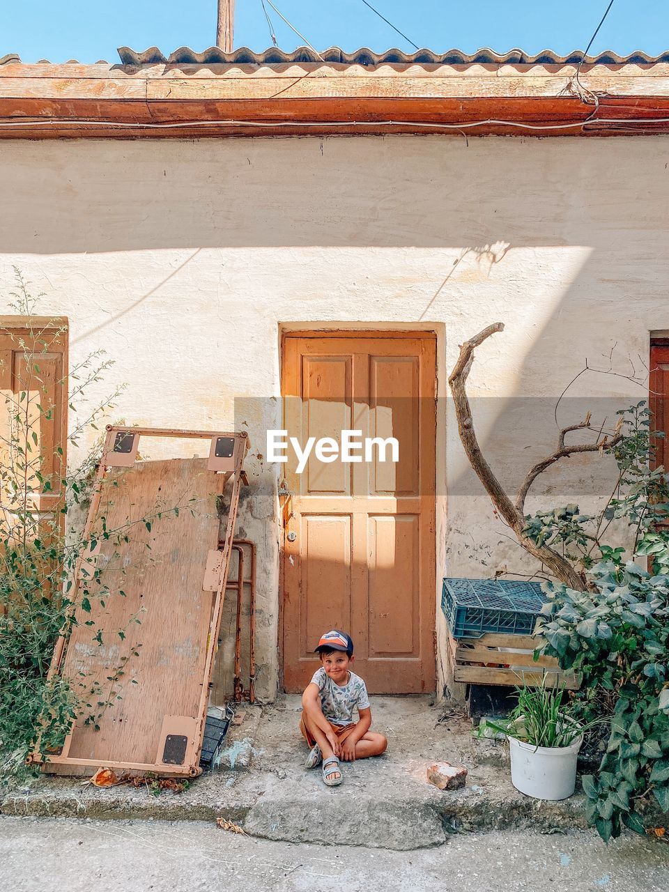
[[[137,461],[140,436],[211,438],[210,458]],[[60,751],[40,752],[37,737],[45,772],[200,772],[247,449],[246,434],[108,428],[87,517],[95,547],[79,560],[75,622],[50,668],[81,705]]]

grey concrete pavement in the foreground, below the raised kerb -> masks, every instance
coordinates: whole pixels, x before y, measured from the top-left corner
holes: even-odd
[[[270,842],[214,822],[0,818],[12,892],[666,892],[669,846],[591,831],[493,830],[400,853]]]

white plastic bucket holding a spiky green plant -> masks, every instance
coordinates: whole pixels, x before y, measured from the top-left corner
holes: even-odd
[[[568,799],[576,786],[576,759],[582,737],[569,747],[533,747],[509,737],[511,783],[535,799]]]

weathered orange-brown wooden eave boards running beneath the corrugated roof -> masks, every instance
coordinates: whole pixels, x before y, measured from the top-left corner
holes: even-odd
[[[8,62],[0,66],[0,138],[669,132],[662,120],[669,119],[669,65],[583,74],[599,94],[595,114],[569,91],[571,68]],[[169,126],[148,126],[156,123]]]

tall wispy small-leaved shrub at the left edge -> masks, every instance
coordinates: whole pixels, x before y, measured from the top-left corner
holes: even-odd
[[[65,444],[50,444],[47,437],[45,447],[40,439],[59,410],[42,358],[64,330],[35,315],[36,301],[18,271],[17,278],[12,309],[25,318],[28,336],[5,332],[21,361],[12,370],[14,386],[0,399],[0,752],[10,769],[28,755],[37,724],[42,747],[61,746],[89,693],[85,680],[75,690],[70,681],[49,679],[48,668],[59,632],[72,622],[68,595],[78,558],[89,544],[76,523],[66,533],[64,516],[87,499],[95,464],[92,455],[70,473],[61,468],[59,481],[49,473],[61,467]],[[88,386],[110,365],[96,352],[70,369],[70,398],[85,401]],[[110,406],[108,400],[86,407],[70,442],[95,431],[96,419]],[[41,497],[56,490],[62,498],[52,509],[41,510]],[[94,588],[100,597],[99,578],[89,586],[90,598]]]

